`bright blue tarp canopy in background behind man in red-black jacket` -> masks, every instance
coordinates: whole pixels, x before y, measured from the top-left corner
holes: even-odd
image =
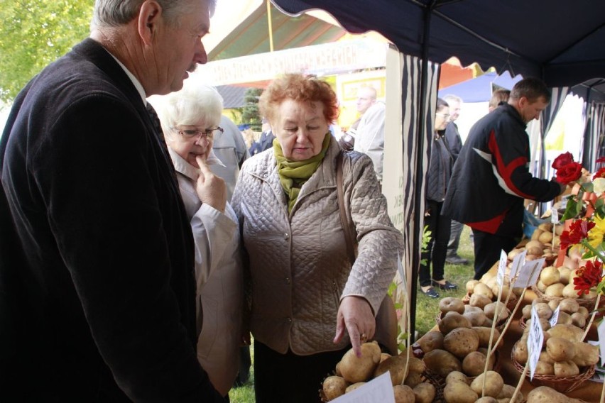
[[[500,75],[495,72],[488,72],[479,77],[442,88],[439,90],[439,96],[443,98],[447,94],[454,94],[462,98],[464,102],[487,102],[491,98],[494,89],[511,89],[521,78],[520,75],[511,77],[508,72],[503,72]]]

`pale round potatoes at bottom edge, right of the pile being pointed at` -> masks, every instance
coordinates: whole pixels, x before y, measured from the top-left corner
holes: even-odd
[[[443,398],[446,403],[509,403],[514,393],[515,387],[506,385],[498,372],[487,371],[469,380],[462,372],[453,371],[445,378]],[[519,392],[514,403],[520,402],[523,402],[523,394]]]

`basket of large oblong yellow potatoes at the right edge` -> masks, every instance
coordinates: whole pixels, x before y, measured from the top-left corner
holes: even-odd
[[[540,304],[540,302],[538,303]],[[550,309],[541,306],[541,309]],[[528,360],[527,341],[531,320],[523,331],[523,336],[513,346],[513,359],[520,365]],[[539,375],[555,375],[557,377],[572,377],[579,375],[584,367],[595,365],[599,361],[599,347],[584,343],[584,331],[573,324],[556,324],[550,327],[547,319],[540,317],[543,329],[544,343],[540,360],[535,373]]]

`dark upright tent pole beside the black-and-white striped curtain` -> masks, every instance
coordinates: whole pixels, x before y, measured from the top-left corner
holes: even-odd
[[[430,34],[430,17],[432,13],[435,0],[425,9],[425,26],[423,33],[423,60],[422,70],[420,71],[420,92],[418,92],[418,114],[416,116],[416,138],[418,139],[418,147],[416,148],[416,166],[415,166],[415,180],[417,186],[414,187],[414,234],[413,234],[413,258],[412,258],[412,284],[410,287],[410,332],[412,332],[412,339],[415,339],[416,329],[416,297],[418,296],[418,268],[420,267],[420,249],[422,248],[422,236],[424,228],[424,214],[422,210],[423,206],[423,186],[424,178],[419,177],[423,174],[423,149],[425,145],[425,110],[427,105],[427,83],[428,83],[428,47],[429,47],[429,34]],[[409,347],[409,346],[408,346]]]

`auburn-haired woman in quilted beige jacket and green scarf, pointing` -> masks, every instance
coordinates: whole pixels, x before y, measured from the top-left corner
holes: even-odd
[[[358,246],[351,267],[337,198],[342,150],[329,133],[337,97],[327,83],[286,74],[263,92],[259,109],[276,140],[244,162],[232,199],[248,255],[256,402],[319,402],[322,379],[374,336],[403,237],[370,158],[343,153]]]

